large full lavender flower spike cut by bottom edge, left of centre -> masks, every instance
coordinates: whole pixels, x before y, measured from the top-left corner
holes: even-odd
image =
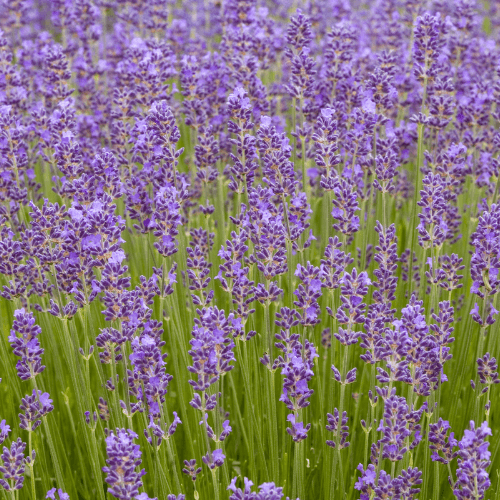
[[[141,477],[146,474],[144,469],[136,470],[142,463],[142,452],[134,443],[137,438],[135,432],[125,429],[116,429],[116,433],[111,431],[106,437],[108,458],[102,471],[107,474],[108,492],[121,500],[132,500],[139,494]]]

